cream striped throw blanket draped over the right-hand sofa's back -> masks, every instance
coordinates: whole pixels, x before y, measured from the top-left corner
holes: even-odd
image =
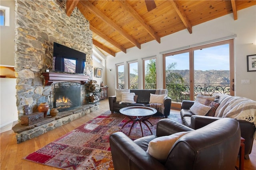
[[[256,102],[238,96],[226,97],[216,109],[215,117],[230,117],[256,125]],[[256,139],[256,134],[254,134],[254,139]]]

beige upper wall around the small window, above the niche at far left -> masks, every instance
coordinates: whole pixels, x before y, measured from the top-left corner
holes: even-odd
[[[14,66],[15,1],[1,0],[0,5],[10,8],[10,26],[0,26],[0,65]]]

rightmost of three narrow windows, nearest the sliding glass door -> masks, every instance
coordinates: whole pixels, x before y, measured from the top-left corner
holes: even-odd
[[[143,88],[156,89],[156,58],[143,59]]]

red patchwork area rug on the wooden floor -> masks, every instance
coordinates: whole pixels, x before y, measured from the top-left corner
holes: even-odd
[[[179,114],[171,114],[170,119],[179,121]],[[151,117],[149,125],[156,134],[156,124],[163,117]],[[109,136],[117,131],[126,135],[132,123],[122,126],[129,119],[120,113],[107,111],[70,131],[56,141],[49,143],[26,156],[25,160],[62,168],[66,170],[114,170],[110,152]],[[144,136],[151,135],[149,129],[142,123]],[[139,123],[135,123],[130,133],[132,140],[142,136]]]

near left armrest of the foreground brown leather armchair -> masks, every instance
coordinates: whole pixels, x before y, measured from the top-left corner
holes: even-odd
[[[110,135],[109,142],[115,170],[166,170],[122,132]]]

